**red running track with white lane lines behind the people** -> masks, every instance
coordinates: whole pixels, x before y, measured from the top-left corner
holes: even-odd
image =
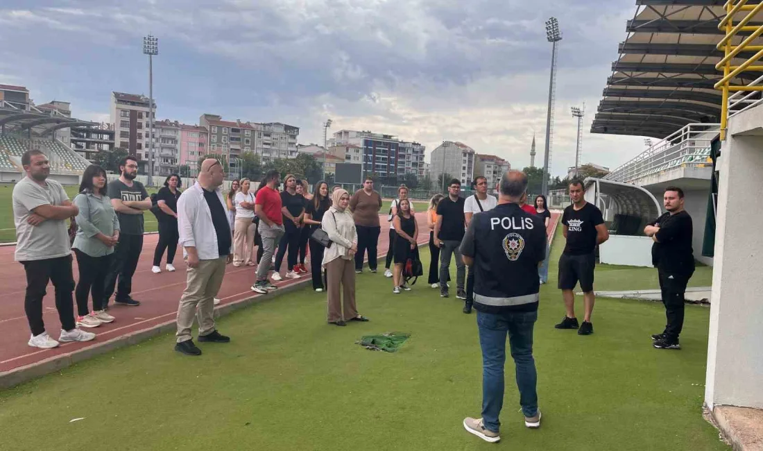
[[[552,215],[549,231],[553,230],[559,214]],[[417,214],[419,223],[419,243],[426,245],[429,241],[429,230],[425,213]],[[389,224],[381,218],[381,234],[379,235],[378,254],[382,258],[379,264],[383,268],[383,256],[386,256],[389,246]],[[137,271],[133,279],[134,291],[132,296],[141,302],[139,307],[126,307],[111,303],[109,314],[117,318],[111,324],[101,324],[100,327],[88,329],[96,333],[95,340],[87,343],[61,343],[52,350],[40,350],[27,345],[29,340],[29,325],[24,314],[24,291],[26,288],[26,276],[20,263],[14,262],[14,246],[0,247],[0,330],[2,330],[2,346],[0,346],[0,373],[11,372],[23,366],[34,365],[43,360],[62,356],[63,354],[76,353],[89,346],[97,346],[106,340],[113,340],[127,334],[157,327],[168,321],[174,321],[178,308],[178,302],[185,289],[185,262],[182,259],[182,250],[178,250],[175,256],[176,272],[151,272],[153,250],[159,236],[156,234],[145,235],[143,239],[143,252],[140,256]],[[309,256],[307,257],[309,261]],[[74,259],[74,276],[78,279],[77,262]],[[285,269],[285,265],[282,265]],[[248,298],[256,298],[260,295],[252,292],[250,286],[255,279],[255,269],[251,266],[238,268],[227,266],[225,279],[217,295],[221,299],[221,305],[243,301]],[[283,274],[283,271],[282,271]],[[298,282],[309,280],[309,274],[301,279],[278,282],[278,286],[293,285]],[[43,319],[46,329],[54,339],[58,338],[61,327],[58,312],[53,299],[53,285],[48,285],[47,295],[43,300]],[[76,307],[75,307],[76,311]]]

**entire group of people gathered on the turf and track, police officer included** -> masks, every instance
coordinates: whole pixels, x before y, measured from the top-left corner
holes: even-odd
[[[282,280],[285,256],[287,278],[298,279],[308,272],[304,267],[308,246],[314,291],[327,292],[327,323],[346,326],[349,321],[369,321],[357,308],[356,275],[363,271],[366,254],[369,270],[378,269],[382,200],[370,178],[353,195],[339,185],[329,190],[322,181],[310,194],[307,183],[291,175],[285,176],[280,191],[281,176],[271,171],[256,192],[249,179],[241,179],[224,195],[223,167],[217,159],[205,159],[194,185],[181,191],[181,178],[173,174],[154,201],[135,180],[137,160],[127,156],[120,164],[119,178],[108,184],[100,166],[85,169],[79,194],[70,201],[60,183],[48,178],[50,166],[42,152],[27,151],[21,163],[26,176],[13,191],[15,259],[27,276],[24,309],[31,329],[29,346],[47,349],[59,342],[95,339],[94,333],[80,327],[115,321],[108,312],[111,295],[114,304],[140,305],[131,296],[132,278],[143,246],[143,212],[149,209],[159,220],[152,271],[161,272],[165,253],[165,268],[174,271],[178,245],[188,267],[177,311],[175,350],[180,353],[201,354],[192,339],[195,320],[199,342],[230,341],[217,330],[213,314],[228,263],[256,266],[251,289],[265,294],[278,289],[274,282]],[[496,442],[500,440],[498,415],[504,397],[507,337],[525,425],[540,426],[533,328],[539,287],[548,278],[551,214],[542,195],[527,205],[523,172],[504,173],[496,187],[497,198],[488,194],[485,177],[477,177],[474,188],[473,195],[462,198],[461,183],[453,179],[447,195],[430,200],[426,215],[431,251],[428,283],[439,288],[441,297],[449,297],[449,268],[456,257],[456,298],[464,301],[464,313],[477,311],[483,357],[482,417],[467,417],[463,426],[483,440]],[[596,249],[607,241],[609,232],[599,208],[585,201],[582,182],[573,180],[569,193],[571,205],[562,214],[566,243],[558,277],[565,316],[555,327],[589,335],[594,332]],[[401,186],[387,217],[391,231],[385,276],[392,279],[394,294],[410,291],[408,263],[418,260],[419,224],[407,195],[407,188]],[[644,229],[654,241],[653,263],[667,318],[665,330],[652,335],[652,340],[657,349],[677,350],[681,348],[684,292],[694,272],[692,223],[684,210],[681,188],[666,188],[663,200],[666,213]],[[76,285],[72,250],[79,268]],[[48,282],[55,290],[59,340],[53,340],[43,324]],[[573,291],[578,285],[584,293],[581,323],[575,316]]]

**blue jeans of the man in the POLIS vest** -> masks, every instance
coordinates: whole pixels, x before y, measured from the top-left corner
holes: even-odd
[[[517,368],[522,413],[525,417],[538,414],[538,376],[533,359],[533,327],[537,319],[537,311],[505,314],[477,312],[479,343],[482,348],[482,418],[488,430],[498,432],[501,427],[498,415],[504,407],[507,334],[511,356]]]

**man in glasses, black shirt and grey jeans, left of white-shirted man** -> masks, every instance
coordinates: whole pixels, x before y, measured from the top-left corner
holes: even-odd
[[[448,197],[443,198],[437,205],[437,222],[434,226],[434,245],[442,251],[439,254],[439,296],[447,298],[448,295],[448,268],[450,257],[456,254],[456,298],[466,300],[464,281],[466,279],[466,266],[461,258],[461,240],[464,237],[465,216],[464,198],[459,196],[461,182],[452,179],[448,185]]]

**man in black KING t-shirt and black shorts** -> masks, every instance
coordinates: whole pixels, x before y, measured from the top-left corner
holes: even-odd
[[[583,182],[570,182],[572,205],[562,214],[562,227],[567,243],[559,258],[559,289],[565,301],[566,314],[557,329],[578,329],[578,335],[594,333],[591,314],[594,311],[594,268],[596,267],[596,246],[610,237],[601,211],[585,201]],[[575,285],[580,282],[583,292],[585,316],[578,325],[575,317]]]

